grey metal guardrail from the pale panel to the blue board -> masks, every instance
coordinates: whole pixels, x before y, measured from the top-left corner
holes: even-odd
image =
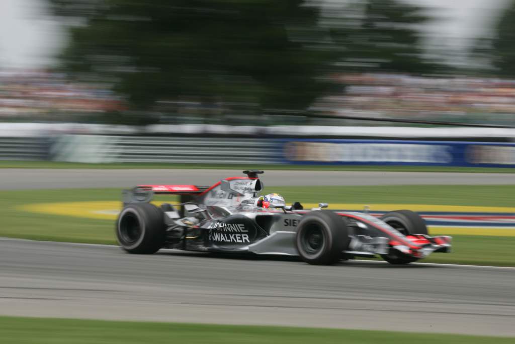
[[[267,139],[64,135],[51,151],[57,161],[273,163],[278,149]]]

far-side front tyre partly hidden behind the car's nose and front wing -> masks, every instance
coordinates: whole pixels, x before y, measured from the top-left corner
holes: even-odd
[[[411,210],[390,211],[383,215],[381,220],[404,235],[429,234],[424,219]],[[419,259],[392,249],[389,250],[388,254],[382,254],[381,257],[388,263],[394,265],[409,264]]]

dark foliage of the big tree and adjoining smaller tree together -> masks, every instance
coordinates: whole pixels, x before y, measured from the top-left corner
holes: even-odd
[[[75,23],[64,68],[111,83],[129,104],[132,112],[110,122],[156,122],[148,113],[185,100],[206,105],[206,113],[298,113],[332,90],[333,72],[433,68],[417,31],[428,18],[396,0],[330,13],[308,0],[51,1],[56,15]]]

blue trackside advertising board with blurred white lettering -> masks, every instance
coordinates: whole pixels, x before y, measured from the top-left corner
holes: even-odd
[[[282,162],[297,165],[515,167],[515,143],[283,139]]]

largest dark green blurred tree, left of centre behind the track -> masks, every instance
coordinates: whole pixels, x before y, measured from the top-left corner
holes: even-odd
[[[305,109],[334,61],[306,0],[52,0],[78,22],[66,69],[113,81],[132,109],[195,96]]]

